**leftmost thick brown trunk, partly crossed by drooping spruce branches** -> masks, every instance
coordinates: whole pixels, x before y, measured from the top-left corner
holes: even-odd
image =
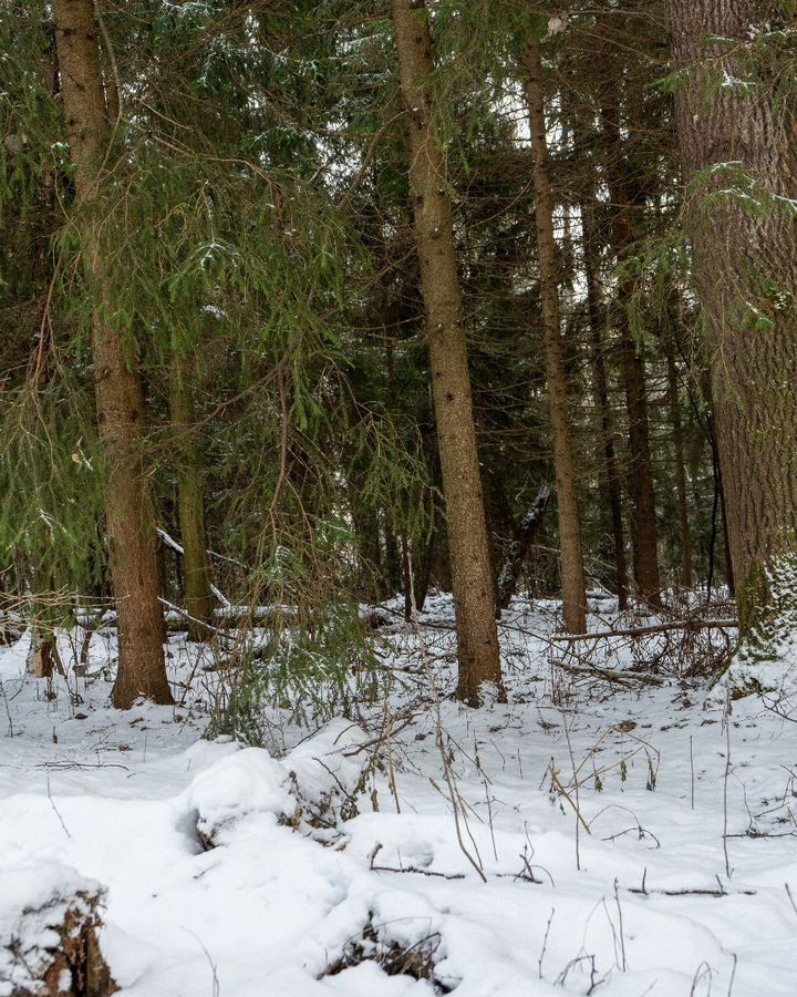
[[[66,133],[74,163],[76,225],[86,280],[103,292],[100,243],[100,181],[110,142],[92,0],[53,0],[55,40]],[[118,672],[114,705],[122,708],[145,696],[170,702],[164,650],[163,614],[155,522],[142,465],[144,397],[138,371],[131,369],[120,333],[97,307],[92,356],[100,439],[105,460],[105,512],[111,575],[118,614]]]

